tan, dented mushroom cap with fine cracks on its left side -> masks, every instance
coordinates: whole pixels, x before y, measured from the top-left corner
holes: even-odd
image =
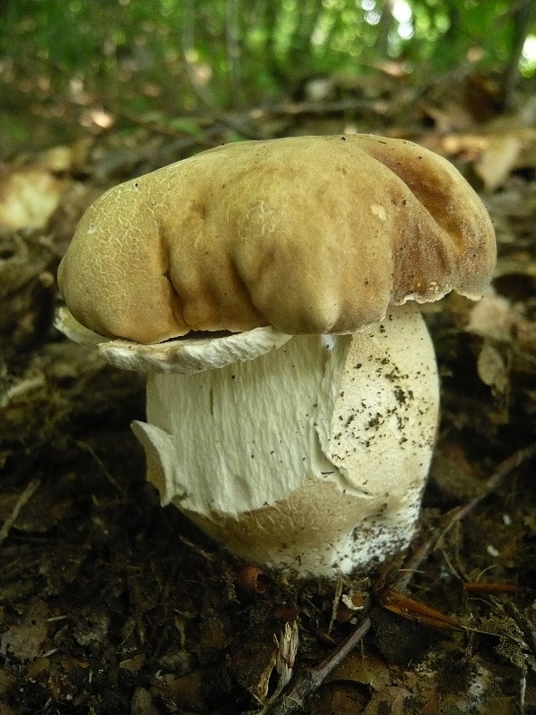
[[[190,331],[349,333],[389,304],[479,298],[496,247],[447,160],[373,135],[229,144],[127,181],[58,272],[72,315],[141,343]]]

